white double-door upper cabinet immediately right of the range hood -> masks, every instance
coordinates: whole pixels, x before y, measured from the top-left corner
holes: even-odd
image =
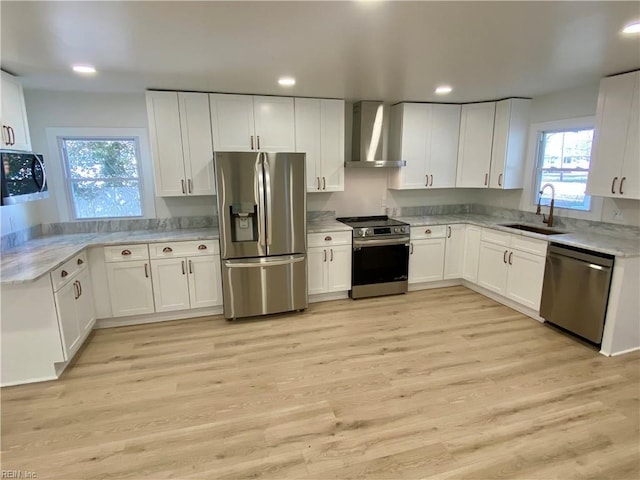
[[[390,188],[455,187],[460,111],[460,105],[426,103],[392,108],[391,155],[406,166],[390,173]]]

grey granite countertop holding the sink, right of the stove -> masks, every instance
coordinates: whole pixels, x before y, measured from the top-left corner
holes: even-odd
[[[569,245],[572,247],[585,248],[587,250],[594,250],[596,252],[607,253],[609,255],[615,255],[617,257],[639,257],[640,256],[640,239],[638,238],[624,238],[614,237],[612,235],[605,235],[600,233],[581,233],[581,232],[566,232],[557,235],[542,235],[539,233],[527,232],[523,230],[516,230],[503,226],[505,223],[518,223],[510,220],[505,220],[502,217],[493,217],[490,215],[478,215],[473,213],[456,214],[456,215],[431,215],[424,217],[394,217],[397,220],[403,221],[411,225],[426,226],[426,225],[445,225],[452,223],[469,223],[480,227],[490,227],[496,230],[502,230],[504,232],[511,233],[513,235],[522,235],[530,238],[537,238],[545,240],[550,243],[558,243],[562,245]],[[545,225],[535,225],[537,227],[544,227]]]

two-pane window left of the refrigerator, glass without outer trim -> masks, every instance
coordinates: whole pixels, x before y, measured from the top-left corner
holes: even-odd
[[[74,218],[142,216],[137,137],[62,137],[59,142]]]

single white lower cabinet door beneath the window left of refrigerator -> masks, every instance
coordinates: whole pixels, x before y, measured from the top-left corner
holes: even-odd
[[[154,312],[151,270],[147,260],[107,263],[107,279],[114,317]]]

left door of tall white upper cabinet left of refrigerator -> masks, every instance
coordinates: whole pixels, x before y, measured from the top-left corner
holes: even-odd
[[[186,194],[184,157],[177,92],[147,92],[149,137],[153,155],[156,195]]]

